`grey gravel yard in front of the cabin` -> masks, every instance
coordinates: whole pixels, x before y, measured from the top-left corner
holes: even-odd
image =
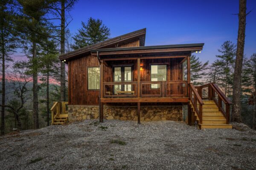
[[[96,120],[0,137],[0,169],[253,170],[256,131]]]

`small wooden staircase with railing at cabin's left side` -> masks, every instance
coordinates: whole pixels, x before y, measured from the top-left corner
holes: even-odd
[[[51,111],[52,125],[63,125],[67,122],[67,102],[54,102]]]

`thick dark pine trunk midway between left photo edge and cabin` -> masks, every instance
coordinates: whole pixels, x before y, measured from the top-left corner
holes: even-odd
[[[38,121],[38,69],[37,69],[37,58],[36,58],[36,43],[32,43],[32,52],[33,52],[33,119],[34,119],[34,128],[39,128]]]

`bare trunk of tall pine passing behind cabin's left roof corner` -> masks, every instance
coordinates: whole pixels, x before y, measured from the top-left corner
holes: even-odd
[[[61,54],[65,53],[65,0],[61,0]],[[66,101],[65,63],[61,61],[61,101]]]

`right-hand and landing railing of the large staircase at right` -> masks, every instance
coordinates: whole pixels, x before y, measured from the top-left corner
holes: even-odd
[[[224,115],[227,124],[230,121],[230,105],[232,102],[224,95],[219,87],[214,83],[197,86],[199,95],[202,99],[213,100],[218,106],[219,111]]]

